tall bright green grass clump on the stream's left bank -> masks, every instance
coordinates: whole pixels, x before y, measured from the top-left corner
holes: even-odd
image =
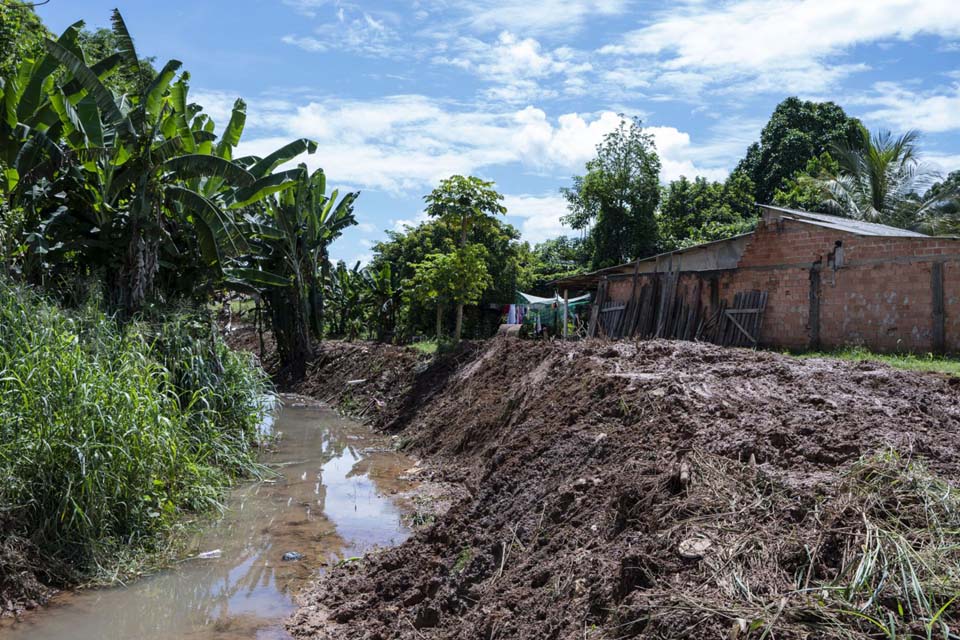
[[[0,283],[0,534],[79,575],[151,551],[256,469],[267,391],[202,322],[120,326]]]

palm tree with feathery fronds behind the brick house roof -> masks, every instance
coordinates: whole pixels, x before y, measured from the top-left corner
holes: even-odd
[[[866,129],[856,145],[836,145],[839,170],[820,180],[827,207],[840,215],[904,229],[927,229],[943,195],[926,198],[937,177],[917,151],[916,131],[894,136]]]

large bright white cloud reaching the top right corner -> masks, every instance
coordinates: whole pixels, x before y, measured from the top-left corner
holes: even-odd
[[[833,60],[863,43],[955,37],[954,0],[737,0],[678,3],[601,52],[734,92],[821,90],[863,70]],[[667,76],[669,77],[669,76]],[[734,88],[730,85],[734,84]]]

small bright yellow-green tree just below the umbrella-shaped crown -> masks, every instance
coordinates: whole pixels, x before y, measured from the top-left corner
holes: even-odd
[[[413,266],[413,277],[405,282],[410,301],[436,306],[437,342],[443,337],[443,307],[447,304],[462,309],[476,304],[484,290],[492,284],[484,259],[486,249],[479,244],[457,247],[452,253],[431,253]],[[458,321],[462,318],[457,314]],[[456,330],[458,330],[459,324]],[[454,333],[454,339],[460,336]]]

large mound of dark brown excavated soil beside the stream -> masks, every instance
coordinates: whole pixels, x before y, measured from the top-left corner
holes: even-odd
[[[495,340],[438,387],[392,426],[468,497],[332,571],[296,636],[926,637],[957,592],[955,379]]]

